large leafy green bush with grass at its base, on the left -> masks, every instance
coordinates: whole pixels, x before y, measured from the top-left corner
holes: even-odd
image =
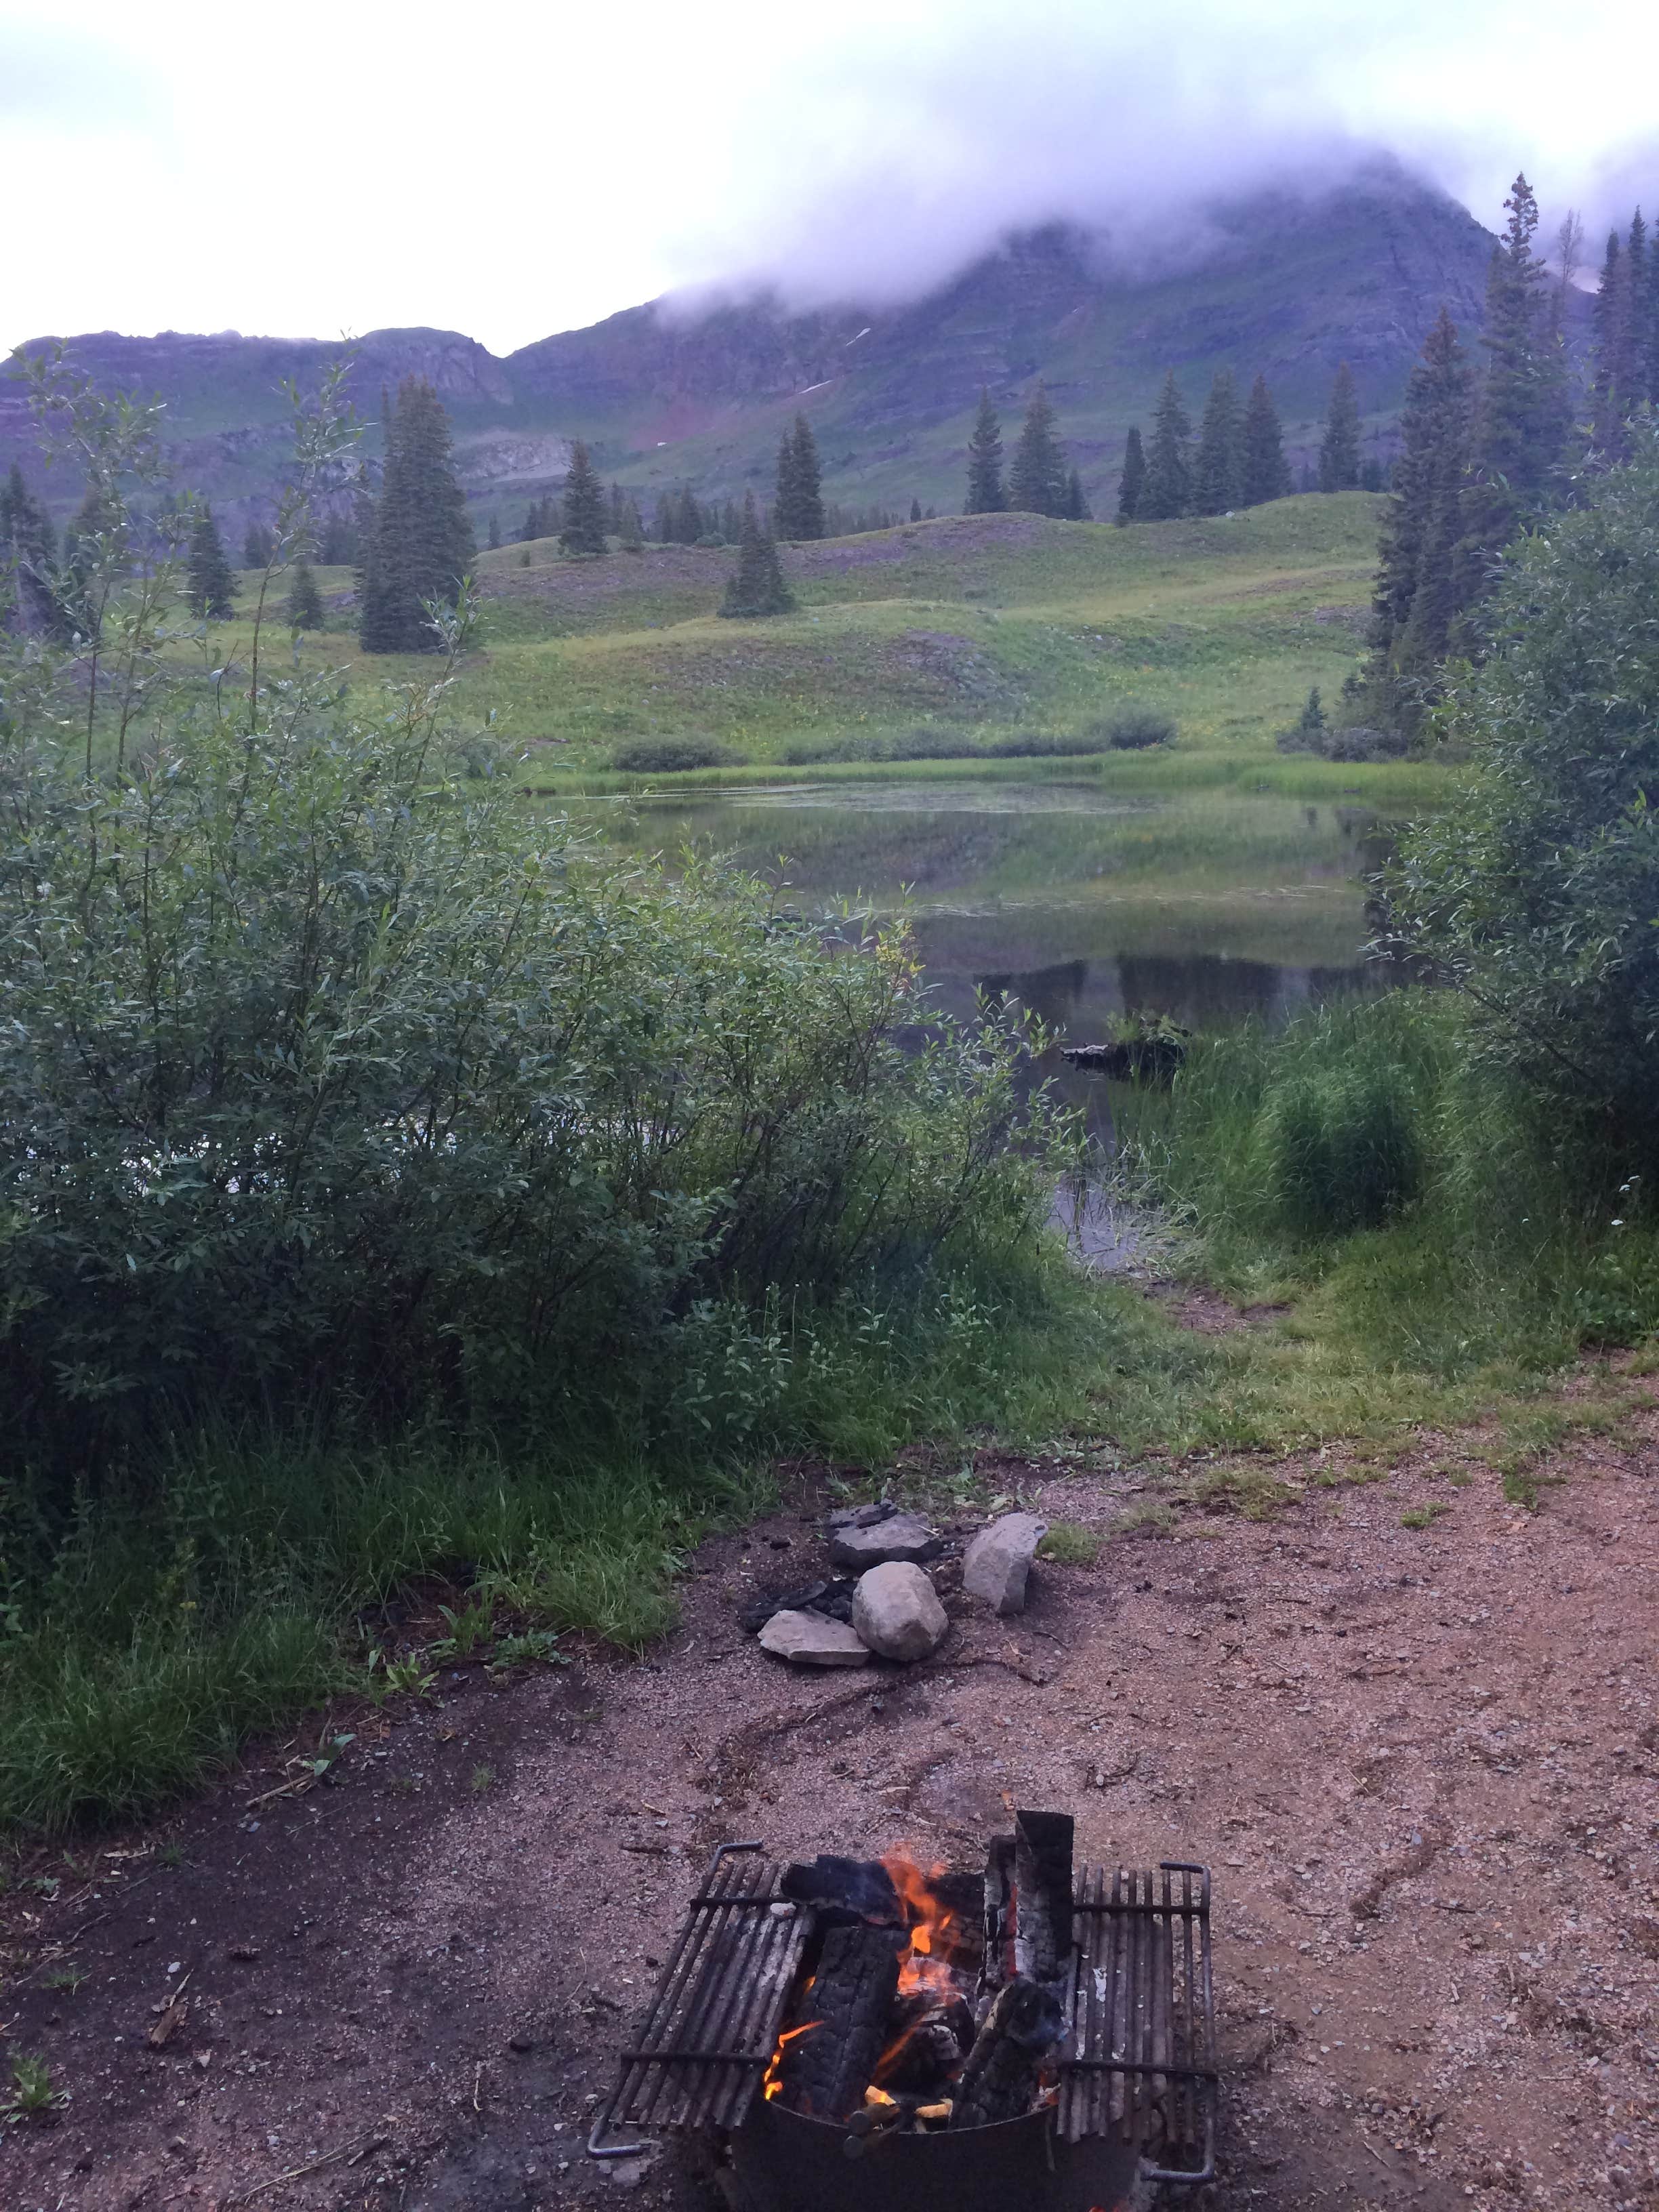
[[[902,931],[533,812],[451,726],[465,584],[374,714],[259,624],[192,672],[128,418],[35,400],[113,518],[97,635],[0,635],[0,1820],[62,1827],[352,1679],[400,1577],[639,1641],[860,1378],[872,1438],[991,1407],[1064,1124],[1015,1029],[916,1042]]]

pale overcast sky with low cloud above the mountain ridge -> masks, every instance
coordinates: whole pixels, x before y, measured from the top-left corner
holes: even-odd
[[[1659,201],[1657,88],[1652,0],[0,0],[0,345],[509,352],[721,279],[894,299],[1009,226],[1157,239],[1363,144],[1486,223],[1524,166],[1595,230]]]

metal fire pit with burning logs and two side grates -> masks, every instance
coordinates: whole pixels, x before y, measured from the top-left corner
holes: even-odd
[[[745,2212],[1119,2212],[1214,2174],[1210,1874],[984,1869],[723,1843],[588,2150],[699,2137]]]

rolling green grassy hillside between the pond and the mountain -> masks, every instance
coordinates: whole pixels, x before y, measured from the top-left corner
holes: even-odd
[[[1157,770],[1113,754],[1091,774],[1336,787],[1354,772],[1285,761],[1272,741],[1312,684],[1334,692],[1356,666],[1376,518],[1376,498],[1343,493],[1130,531],[1035,515],[907,524],[785,549],[799,611],[768,622],[714,613],[730,551],[566,562],[551,540],[504,546],[480,557],[482,639],[460,699],[493,710],[546,785],[591,779],[639,739],[697,737],[768,765],[918,730],[973,748],[1086,737],[1155,706],[1179,723],[1177,752]],[[323,586],[338,595],[349,577],[325,571]],[[352,681],[429,672],[358,655],[349,608],[334,622],[305,653]]]

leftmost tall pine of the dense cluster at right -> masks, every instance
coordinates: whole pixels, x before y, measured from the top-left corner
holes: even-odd
[[[1374,677],[1385,712],[1413,721],[1455,615],[1453,555],[1469,467],[1469,356],[1442,307],[1411,369],[1400,414],[1400,458],[1383,515],[1374,597]]]

